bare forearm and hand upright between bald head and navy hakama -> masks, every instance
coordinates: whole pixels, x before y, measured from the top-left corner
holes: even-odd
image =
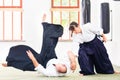
[[[70,60],[71,70],[74,71],[76,69],[76,58],[75,58],[75,55],[71,51],[68,51],[68,56],[69,56],[69,60]]]

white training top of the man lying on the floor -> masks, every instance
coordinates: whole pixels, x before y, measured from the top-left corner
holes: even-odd
[[[58,64],[58,63],[62,63],[64,65],[66,65],[66,67],[67,67],[66,73],[59,73],[56,70],[56,67],[53,64]],[[45,76],[65,76],[71,72],[69,61],[55,59],[55,58],[48,61],[46,68],[44,68],[41,64],[39,64],[39,66],[36,67],[35,70],[37,70],[38,72],[42,73]]]

